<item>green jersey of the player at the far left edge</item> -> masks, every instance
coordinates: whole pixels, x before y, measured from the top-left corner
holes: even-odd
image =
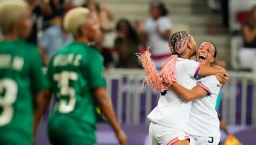
[[[22,40],[0,42],[0,141],[20,139],[10,136],[20,134],[31,144],[33,93],[46,87],[34,45]]]

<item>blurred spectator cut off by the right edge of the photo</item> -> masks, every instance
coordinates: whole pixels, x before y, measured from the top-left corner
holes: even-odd
[[[256,6],[250,11],[248,20],[242,27],[243,48],[239,53],[241,65],[252,69],[256,57]]]

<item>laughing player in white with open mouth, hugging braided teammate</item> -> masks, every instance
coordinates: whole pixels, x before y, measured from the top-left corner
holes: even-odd
[[[196,60],[204,66],[211,66],[211,63],[215,60],[216,53],[216,47],[213,43],[204,41],[198,47]],[[184,101],[193,100],[188,123],[190,144],[217,145],[220,142],[220,121],[215,105],[220,92],[220,86],[218,86],[220,81],[215,75],[212,75],[198,79],[196,84],[191,90],[177,83],[174,83],[171,88]]]

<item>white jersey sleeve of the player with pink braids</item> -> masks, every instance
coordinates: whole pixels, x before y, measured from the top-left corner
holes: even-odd
[[[201,64],[193,60],[185,59],[183,60],[182,67],[184,72],[188,74],[188,76],[190,76],[191,78],[197,78]]]

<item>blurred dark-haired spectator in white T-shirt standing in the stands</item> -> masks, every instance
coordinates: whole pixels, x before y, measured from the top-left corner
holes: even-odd
[[[148,45],[152,53],[152,60],[160,70],[160,65],[170,57],[168,40],[171,36],[172,23],[168,18],[168,11],[160,1],[150,3],[150,18],[145,22],[148,35]]]

